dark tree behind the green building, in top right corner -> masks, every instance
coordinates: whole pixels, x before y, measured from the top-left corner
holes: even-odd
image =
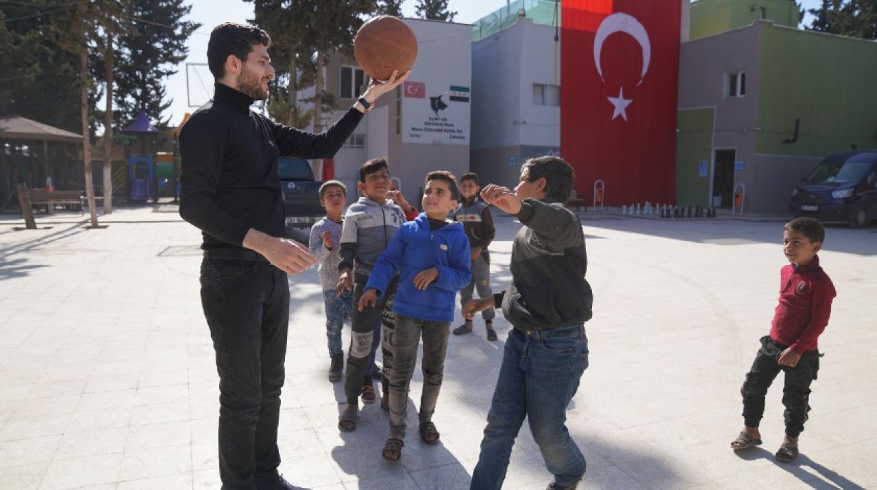
[[[809,31],[829,32],[861,39],[877,39],[877,1],[875,0],[823,0],[817,9],[810,9],[814,16]]]

